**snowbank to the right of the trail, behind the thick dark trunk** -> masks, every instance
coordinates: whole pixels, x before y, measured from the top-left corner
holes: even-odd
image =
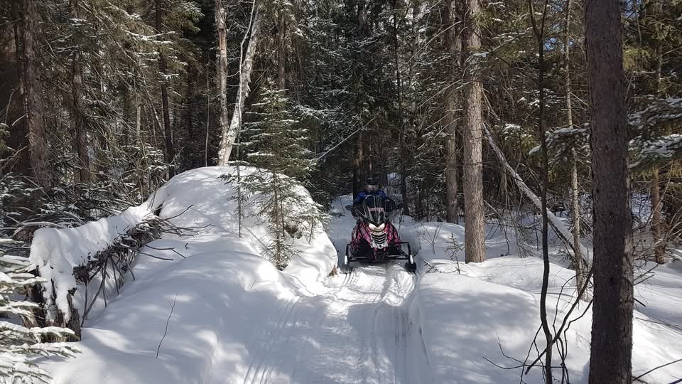
[[[506,245],[501,238],[492,238],[486,242],[485,262],[465,264],[463,250],[457,262],[449,239],[454,237],[463,244],[464,228],[445,223],[423,223],[420,227],[421,232],[412,225],[403,233],[413,233],[411,241],[421,248],[419,257],[428,262],[422,272],[434,272],[419,278],[410,307],[411,319],[423,335],[433,382],[445,383],[453,378],[457,383],[518,381],[520,369],[502,369],[494,364],[515,367],[529,356],[540,326],[542,260],[499,257]],[[561,257],[553,260],[561,262]],[[639,271],[644,273],[651,267],[642,265]],[[682,358],[678,351],[682,345],[678,326],[682,321],[680,274],[667,266],[650,273],[649,279],[635,287],[635,297],[646,306],[638,304],[634,313],[634,376]],[[575,297],[575,272],[552,262],[548,297],[550,326],[558,329]],[[586,383],[592,311],[581,304],[570,320],[573,323],[563,337],[570,381]],[[540,333],[538,345],[543,343]],[[536,358],[534,349],[530,356],[527,363]],[[553,361],[556,366],[561,363],[558,351]],[[556,373],[561,374],[560,370]],[[670,383],[678,378],[682,378],[680,362],[654,370],[642,380]],[[542,383],[541,368],[532,369],[524,380]]]

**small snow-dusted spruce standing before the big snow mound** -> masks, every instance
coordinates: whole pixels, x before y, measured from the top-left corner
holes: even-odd
[[[268,250],[280,269],[298,254],[293,240],[312,236],[325,220],[322,207],[302,198],[302,183],[315,169],[315,160],[305,147],[308,131],[291,112],[283,92],[261,91],[260,101],[247,113],[251,122],[244,124],[245,142],[240,144],[247,151],[249,164],[258,167],[242,178],[242,188],[255,198],[255,215],[268,218],[272,237]]]

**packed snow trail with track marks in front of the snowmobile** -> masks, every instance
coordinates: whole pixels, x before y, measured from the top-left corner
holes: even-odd
[[[362,266],[323,292],[294,297],[252,341],[243,383],[414,383],[408,300],[415,282],[397,263]]]

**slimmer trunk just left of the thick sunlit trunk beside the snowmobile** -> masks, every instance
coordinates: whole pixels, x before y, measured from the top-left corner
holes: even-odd
[[[462,49],[462,42],[457,36],[454,0],[445,1],[443,12],[443,28],[445,29],[445,48],[450,54],[448,69],[450,76],[445,86],[450,87],[445,93],[445,220],[448,223],[459,223],[460,215],[457,201],[458,170],[457,170],[457,124],[455,109],[457,108],[457,92],[455,82],[458,72],[458,55]]]

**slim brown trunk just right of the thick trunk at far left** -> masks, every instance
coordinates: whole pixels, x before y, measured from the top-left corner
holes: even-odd
[[[71,17],[78,18],[78,0],[70,1]],[[78,155],[78,175],[81,183],[90,183],[90,159],[87,155],[85,132],[85,106],[83,103],[83,76],[78,47],[73,50],[71,67],[73,146]]]

